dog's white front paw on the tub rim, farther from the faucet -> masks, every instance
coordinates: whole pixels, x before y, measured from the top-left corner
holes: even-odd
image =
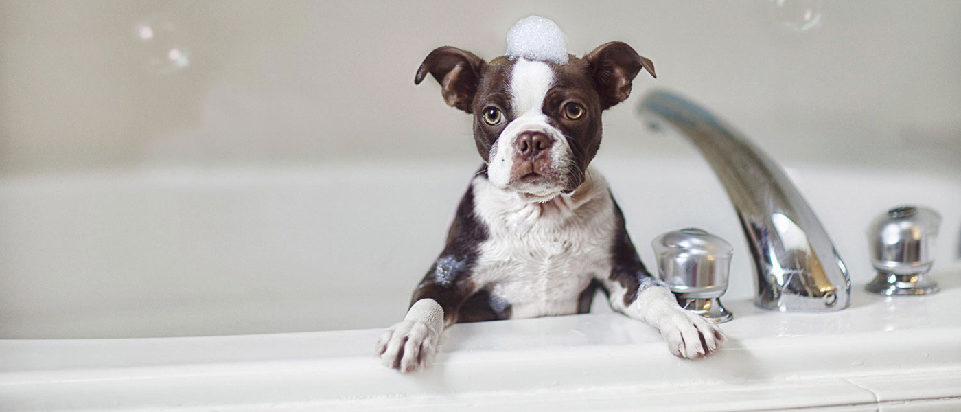
[[[403,373],[427,367],[437,350],[440,332],[424,322],[403,321],[383,332],[377,355],[383,364]]]

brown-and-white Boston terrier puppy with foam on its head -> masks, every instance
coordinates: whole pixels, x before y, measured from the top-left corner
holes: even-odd
[[[657,328],[677,356],[721,346],[720,327],[681,308],[645,269],[590,166],[601,113],[628,98],[641,70],[654,76],[652,61],[619,41],[568,54],[554,22],[536,16],[511,29],[507,54],[493,61],[455,47],[427,56],[414,83],[431,74],[448,105],[473,114],[484,164],[407,316],[377,343],[384,365],[428,366],[457,322],[586,313],[597,288],[615,310]]]

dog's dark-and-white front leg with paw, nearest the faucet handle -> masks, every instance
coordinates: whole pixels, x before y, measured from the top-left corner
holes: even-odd
[[[653,279],[624,227],[624,215],[614,203],[619,230],[614,239],[611,272],[599,277],[609,292],[610,305],[660,331],[676,356],[696,359],[717,351],[725,340],[717,323],[680,307],[664,282]]]

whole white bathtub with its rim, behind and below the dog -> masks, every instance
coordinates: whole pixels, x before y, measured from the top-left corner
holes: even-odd
[[[693,153],[693,152],[692,152]],[[144,167],[0,180],[0,410],[961,409],[961,173],[790,163],[847,263],[850,308],[752,305],[737,218],[700,158],[602,153],[628,231],[735,247],[726,347],[687,361],[611,313],[456,325],[434,366],[373,356],[477,164]],[[942,292],[883,298],[865,230],[944,215]],[[804,409],[808,410],[808,409]],[[820,410],[820,409],[819,409]]]

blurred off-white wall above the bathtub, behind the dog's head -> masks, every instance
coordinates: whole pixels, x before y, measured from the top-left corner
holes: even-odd
[[[531,13],[553,18],[572,52],[620,39],[657,67],[607,114],[602,156],[688,150],[637,137],[634,106],[654,85],[778,158],[961,156],[961,2],[785,1],[786,18],[764,0],[0,0],[0,173],[476,161],[468,117],[414,71],[440,45],[496,57]],[[820,27],[787,27],[805,6]],[[138,37],[144,20],[153,40]],[[149,66],[174,47],[188,65]]]

